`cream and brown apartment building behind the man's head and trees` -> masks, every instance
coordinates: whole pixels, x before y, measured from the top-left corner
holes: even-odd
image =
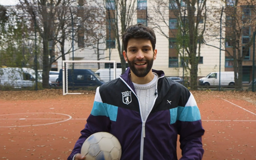
[[[156,6],[158,5],[154,0],[147,1],[147,0],[135,0],[135,7],[136,12],[133,16],[131,24],[136,23],[142,23],[149,27],[156,27],[152,20],[157,20],[159,17],[159,13],[156,12]],[[229,0],[232,1],[232,0]],[[133,1],[132,1],[133,2]],[[203,3],[204,0],[199,0],[198,3]],[[186,9],[186,3],[180,0],[181,7]],[[227,3],[228,4],[228,3]],[[212,16],[212,12],[218,11],[216,16],[216,19],[220,18],[220,10],[221,7],[225,4],[223,3],[214,3],[212,1],[207,1],[206,3],[208,10],[207,12],[211,12],[209,14]],[[230,5],[231,6],[231,5]],[[154,28],[156,32],[156,49],[157,49],[157,58],[154,61],[153,68],[157,70],[163,70],[165,72],[166,76],[182,76],[183,75],[183,68],[182,68],[182,53],[183,51],[180,51],[180,54],[178,54],[177,48],[175,47],[175,43],[177,41],[177,4],[175,1],[171,0],[169,3],[165,4],[165,7],[162,10],[162,20],[159,20],[155,22],[155,24],[158,24],[158,26],[162,26],[162,32],[157,30],[157,28]],[[214,11],[213,11],[214,10]],[[248,13],[252,15],[252,13]],[[116,17],[116,8],[114,5],[113,0],[106,0],[106,43],[105,46],[102,46],[102,48],[106,48],[105,51],[101,51],[101,57],[110,57],[107,59],[102,60],[116,60],[117,62],[117,68],[121,68],[121,62],[120,62],[120,56],[119,52],[117,51],[117,43],[116,43],[116,37],[113,32],[113,26],[111,25],[111,22],[115,20]],[[186,15],[185,15],[186,19]],[[224,14],[223,22],[227,20],[226,15]],[[215,23],[212,21],[212,18],[207,17],[206,19],[206,25],[212,26],[215,25],[215,28],[220,28],[220,23]],[[225,24],[225,23],[223,23]],[[204,20],[200,20],[199,25],[203,27]],[[228,30],[227,26],[222,26],[222,28],[225,28]],[[224,29],[225,30],[225,29]],[[250,32],[252,34],[252,32]],[[79,34],[81,37],[83,37],[83,33]],[[222,32],[222,38],[225,37],[225,32]],[[232,59],[230,59],[230,56],[225,51],[220,51],[220,35],[219,30],[212,31],[206,29],[204,34],[204,41],[207,44],[205,45],[201,44],[200,48],[200,57],[198,58],[199,64],[198,64],[198,78],[208,75],[210,72],[214,71],[231,71],[232,68]],[[120,39],[121,40],[121,39]],[[246,41],[246,35],[244,35],[244,41]],[[226,42],[222,42],[221,48],[222,49],[230,49],[228,46],[228,40]],[[70,42],[69,44],[70,45]],[[78,46],[79,44],[75,44],[75,46]],[[213,47],[216,46],[216,47]],[[198,47],[197,47],[198,49]],[[243,50],[242,50],[243,51]],[[198,51],[197,51],[198,52]],[[245,51],[244,51],[245,52]],[[249,60],[243,61],[243,66],[245,68],[252,68],[252,47],[249,51],[250,53],[248,56],[250,57]],[[244,53],[245,54],[245,53]],[[97,56],[95,55],[92,50],[88,49],[79,49],[75,51],[75,57],[74,60],[97,60]],[[246,58],[248,59],[248,56]],[[67,60],[72,60],[72,54],[69,54],[66,56]],[[186,51],[184,51],[184,57],[186,57]],[[189,65],[188,61],[184,59],[184,65]],[[110,64],[111,65],[111,64]],[[128,64],[126,63],[126,66]],[[220,66],[220,67],[219,67]],[[112,67],[112,66],[110,66]],[[58,68],[61,68],[61,59],[58,60]],[[97,67],[91,66],[93,70],[97,70]],[[109,68],[109,63],[101,64],[101,68]],[[185,72],[185,71],[184,71]],[[250,75],[252,75],[250,73]],[[189,71],[184,73],[184,76],[190,76]]]

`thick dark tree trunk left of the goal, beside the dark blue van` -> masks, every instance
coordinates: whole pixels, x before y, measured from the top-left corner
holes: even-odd
[[[49,50],[48,41],[43,39],[43,88],[49,88]]]

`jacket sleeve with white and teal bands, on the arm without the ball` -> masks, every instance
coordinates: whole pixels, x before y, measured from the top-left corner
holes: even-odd
[[[204,129],[200,111],[192,93],[187,90],[183,94],[187,94],[187,96],[183,95],[181,100],[185,105],[179,107],[177,111],[178,134],[180,135],[180,149],[182,150],[180,160],[201,160],[204,154],[202,145]]]

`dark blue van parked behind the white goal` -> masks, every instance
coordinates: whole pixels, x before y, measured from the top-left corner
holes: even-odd
[[[62,69],[59,72],[58,86],[62,86]],[[91,69],[68,69],[68,88],[83,86],[101,86],[104,81]]]

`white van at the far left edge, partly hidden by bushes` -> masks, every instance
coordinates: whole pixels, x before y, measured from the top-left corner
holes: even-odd
[[[4,86],[33,87],[35,79],[35,70],[31,68],[0,68],[0,84]],[[38,74],[38,82],[42,82],[40,74]],[[51,85],[51,81],[49,84]]]

